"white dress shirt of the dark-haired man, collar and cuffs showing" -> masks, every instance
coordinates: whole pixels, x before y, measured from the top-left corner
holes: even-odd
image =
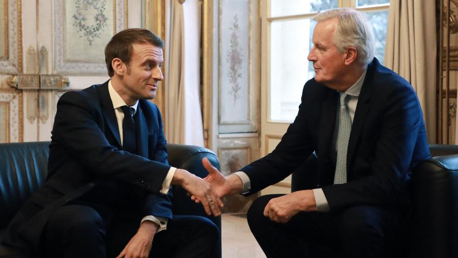
[[[108,82],[108,93],[110,95],[111,102],[113,104],[113,109],[115,109],[116,120],[118,122],[119,136],[120,136],[120,139],[121,139],[121,144],[123,144],[124,143],[123,142],[123,119],[124,119],[124,113],[123,113],[121,107],[127,106],[127,104],[126,104],[126,102],[124,102],[124,100],[118,94],[118,92],[116,92],[116,90],[113,89],[113,86],[111,85],[111,81]],[[138,107],[138,100],[135,102],[134,105],[131,106],[131,108],[133,108],[135,110],[134,111],[134,115],[137,112],[137,107]],[[167,194],[168,193],[168,190],[170,189],[171,180],[174,177],[176,170],[177,170],[177,168],[175,168],[175,167],[170,167],[170,169],[168,170],[168,173],[165,176],[164,181],[162,182],[162,189],[160,191],[161,193],[163,193],[163,194]],[[149,216],[146,216],[143,219],[141,219],[140,223],[144,222],[145,220],[150,220],[150,221],[153,221],[154,223],[158,224],[159,228],[158,228],[157,232],[165,230],[167,228],[167,223],[168,223],[168,219],[167,218],[149,215]]]

